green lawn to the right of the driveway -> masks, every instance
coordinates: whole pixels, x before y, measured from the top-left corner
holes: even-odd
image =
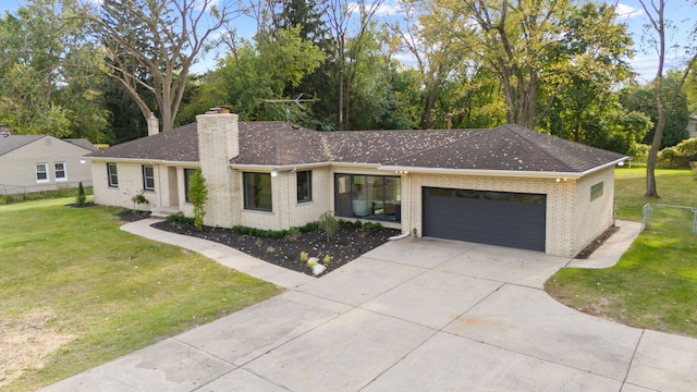
[[[697,181],[689,170],[658,170],[658,200],[644,197],[644,169],[617,169],[615,174],[620,219],[640,220],[646,203],[697,207]],[[689,229],[656,225],[641,233],[614,267],[563,268],[545,289],[591,315],[697,338],[697,234]]]

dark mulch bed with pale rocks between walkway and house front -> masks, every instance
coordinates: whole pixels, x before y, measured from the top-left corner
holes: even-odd
[[[330,256],[331,261],[322,273],[326,274],[400,234],[395,229],[365,230],[341,225],[333,240],[327,242],[327,235],[321,230],[299,233],[296,238],[267,238],[240,234],[231,229],[204,226],[198,230],[193,224],[183,222],[162,221],[152,226],[228,245],[249,256],[308,275],[313,275],[313,271],[301,262],[302,252],[317,257],[320,262],[325,256]]]

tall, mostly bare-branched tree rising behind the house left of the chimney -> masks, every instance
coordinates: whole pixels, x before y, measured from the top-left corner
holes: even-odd
[[[229,1],[105,0],[84,17],[97,26],[108,75],[129,91],[144,119],[156,111],[147,99],[154,97],[168,131],[192,65],[210,49],[213,32],[237,13]]]

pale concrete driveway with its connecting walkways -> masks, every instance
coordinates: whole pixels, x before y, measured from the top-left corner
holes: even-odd
[[[695,391],[697,340],[567,308],[545,281],[616,262],[621,230],[589,260],[462,242],[390,242],[321,279],[142,221],[289,290],[46,391]]]

